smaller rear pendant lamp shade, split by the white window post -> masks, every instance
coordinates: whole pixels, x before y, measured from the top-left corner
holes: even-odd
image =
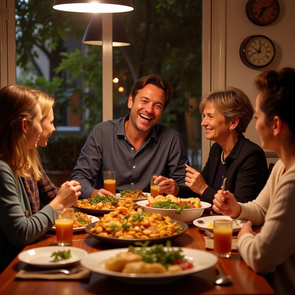
[[[83,36],[83,43],[102,45],[102,14],[95,14],[90,20]],[[113,46],[130,45],[127,32],[119,15],[113,14]]]

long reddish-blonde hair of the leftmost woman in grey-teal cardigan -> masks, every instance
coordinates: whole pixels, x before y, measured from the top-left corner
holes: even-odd
[[[27,140],[22,132],[22,119],[32,123],[37,115],[38,97],[24,86],[8,85],[0,90],[0,158],[14,173],[23,177],[27,173]]]

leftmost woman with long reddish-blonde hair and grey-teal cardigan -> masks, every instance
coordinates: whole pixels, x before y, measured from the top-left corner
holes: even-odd
[[[27,150],[37,148],[42,132],[38,97],[23,86],[0,90],[0,271],[19,251],[54,224],[54,209],[74,204],[80,196],[77,181],[66,183],[59,194],[32,214],[21,177],[29,177]]]

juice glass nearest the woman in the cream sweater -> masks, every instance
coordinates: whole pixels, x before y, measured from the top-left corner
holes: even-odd
[[[232,253],[232,220],[214,220],[214,254],[228,258]]]

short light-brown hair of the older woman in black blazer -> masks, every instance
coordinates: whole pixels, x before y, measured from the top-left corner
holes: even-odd
[[[224,115],[225,121],[238,117],[238,133],[244,133],[253,118],[254,109],[244,91],[235,87],[227,87],[222,91],[207,93],[201,100],[199,109],[203,113],[207,104],[213,104]]]

